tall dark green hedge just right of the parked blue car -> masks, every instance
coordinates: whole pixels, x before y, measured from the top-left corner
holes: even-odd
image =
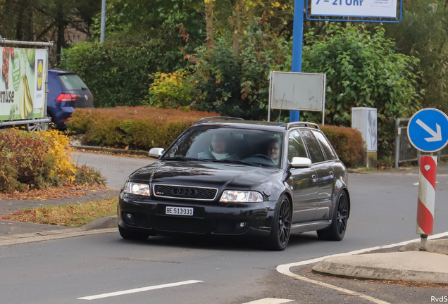
[[[179,51],[167,51],[163,40],[153,39],[135,45],[80,42],[63,52],[60,68],[80,75],[99,108],[142,105],[150,74],[183,65]]]

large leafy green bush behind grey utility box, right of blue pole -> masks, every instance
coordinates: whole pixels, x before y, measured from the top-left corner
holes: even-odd
[[[372,34],[364,25],[330,24],[325,31],[306,34],[303,53],[304,72],[327,75],[325,122],[350,126],[352,107],[377,108],[378,152],[389,153],[394,120],[420,108],[424,91],[417,88],[418,59],[395,53],[382,27]],[[319,120],[313,113],[302,116]]]

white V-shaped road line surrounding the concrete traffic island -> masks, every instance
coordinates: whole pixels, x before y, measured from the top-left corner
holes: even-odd
[[[428,236],[428,239],[440,239],[440,238],[442,238],[444,236],[448,236],[448,232],[442,232],[440,234],[434,234],[432,236]],[[348,253],[337,253],[337,254],[334,254],[334,255],[327,255],[327,256],[324,256],[324,257],[321,257],[321,258],[314,258],[314,259],[311,259],[311,260],[304,260],[304,261],[301,261],[301,262],[294,262],[294,263],[290,263],[290,264],[278,265],[277,266],[277,271],[280,272],[281,274],[285,274],[288,277],[292,277],[294,279],[299,279],[301,281],[307,281],[309,283],[313,283],[313,284],[317,284],[317,285],[320,285],[320,286],[328,287],[330,289],[334,289],[336,291],[342,291],[344,293],[348,293],[348,294],[351,294],[351,295],[356,294],[360,298],[365,298],[366,300],[370,300],[373,303],[390,304],[390,303],[385,302],[383,300],[379,300],[379,299],[373,298],[371,296],[366,296],[366,295],[363,295],[363,294],[359,294],[359,293],[356,293],[356,292],[351,291],[349,289],[342,289],[342,288],[340,288],[338,286],[334,286],[334,285],[331,285],[331,284],[326,284],[326,283],[323,283],[321,281],[316,281],[316,280],[313,280],[313,279],[309,279],[307,277],[299,276],[298,274],[294,274],[294,273],[290,272],[290,267],[309,265],[309,264],[313,264],[313,263],[316,263],[316,262],[321,262],[321,260],[324,260],[325,258],[332,258],[332,257],[337,257],[337,256],[345,256],[345,255],[356,255],[356,254],[360,254],[360,253],[366,253],[366,252],[369,252],[369,251],[375,251],[375,250],[378,250],[378,249],[392,248],[392,247],[397,247],[397,246],[404,246],[404,245],[407,245],[409,243],[414,243],[416,241],[420,241],[420,239],[412,239],[412,240],[409,240],[409,241],[402,241],[400,243],[393,243],[393,244],[385,245],[385,246],[376,246],[376,247],[371,247],[371,248],[364,248],[364,249],[359,249],[359,250],[356,250],[356,251],[350,251]]]

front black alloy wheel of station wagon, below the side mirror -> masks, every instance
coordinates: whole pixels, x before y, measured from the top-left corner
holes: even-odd
[[[275,210],[273,227],[270,231],[269,246],[275,251],[282,251],[290,241],[291,232],[291,204],[287,196],[280,197],[278,208]]]

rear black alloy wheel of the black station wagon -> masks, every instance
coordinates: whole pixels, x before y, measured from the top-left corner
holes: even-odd
[[[349,201],[347,193],[342,190],[335,206],[331,226],[327,229],[318,230],[319,239],[326,241],[341,241],[347,231],[347,220],[349,219]]]

